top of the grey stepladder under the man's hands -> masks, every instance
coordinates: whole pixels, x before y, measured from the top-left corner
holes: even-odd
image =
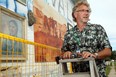
[[[86,71],[80,71],[79,69],[79,66],[78,66],[78,72],[72,68],[72,72],[67,72],[67,66],[65,65],[66,63],[70,62],[71,64],[74,65],[75,67],[75,63],[80,63],[80,62],[88,62],[89,63],[89,71],[86,70]],[[97,66],[96,66],[96,63],[95,63],[95,60],[94,58],[92,57],[89,57],[87,59],[84,59],[84,58],[74,58],[74,59],[61,59],[59,60],[59,64],[60,64],[60,67],[62,67],[62,75],[63,77],[99,77],[99,74],[98,74],[98,69],[97,69]],[[85,65],[84,65],[85,66]],[[84,67],[83,66],[83,67]]]

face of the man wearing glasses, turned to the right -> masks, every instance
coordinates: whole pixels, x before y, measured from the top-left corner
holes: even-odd
[[[80,5],[76,9],[74,16],[77,22],[87,23],[89,21],[90,9],[86,5]]]

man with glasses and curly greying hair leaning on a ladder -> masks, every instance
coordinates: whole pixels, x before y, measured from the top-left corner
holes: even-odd
[[[111,55],[112,47],[104,28],[98,24],[89,23],[90,6],[86,0],[80,0],[73,8],[72,16],[76,26],[68,30],[64,37],[61,50],[63,58],[70,58],[77,52],[82,58],[94,57],[100,77],[106,77],[104,58]]]

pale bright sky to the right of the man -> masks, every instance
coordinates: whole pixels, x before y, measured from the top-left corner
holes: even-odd
[[[116,0],[88,0],[91,7],[90,22],[106,30],[113,50],[116,50]]]

